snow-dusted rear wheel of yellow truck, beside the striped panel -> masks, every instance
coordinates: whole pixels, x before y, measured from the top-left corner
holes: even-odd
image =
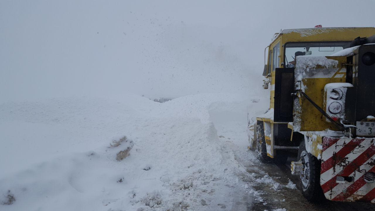
[[[303,172],[300,175],[301,191],[303,196],[312,203],[325,200],[320,186],[320,160],[306,151],[305,142],[301,142],[298,149],[298,160],[303,163]]]

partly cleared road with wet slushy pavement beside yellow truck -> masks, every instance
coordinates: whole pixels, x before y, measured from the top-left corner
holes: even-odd
[[[261,106],[261,105],[258,105]],[[260,107],[253,106],[251,109]],[[254,112],[254,111],[253,111]],[[252,116],[255,113],[250,113]],[[251,211],[370,211],[375,210],[375,205],[371,203],[351,203],[322,201],[319,204],[309,203],[303,197],[299,187],[299,177],[291,175],[290,161],[296,160],[290,157],[287,164],[263,164],[256,159],[255,151],[246,150],[248,137],[241,130],[241,118],[233,118],[228,121],[224,118],[231,115],[230,112],[215,113],[210,112],[211,119],[217,129],[220,140],[232,140],[227,142],[236,154],[236,160],[244,167],[246,173],[240,174],[239,178],[247,182],[246,193],[248,198],[252,197],[252,202],[248,203],[246,209]],[[222,121],[220,121],[222,120]],[[229,119],[230,120],[230,119]],[[246,140],[246,142],[244,142]],[[235,204],[242,204],[241,197],[237,198]]]

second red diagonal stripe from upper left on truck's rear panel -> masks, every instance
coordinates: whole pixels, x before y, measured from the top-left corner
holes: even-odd
[[[320,173],[322,174],[336,164],[340,163],[346,157],[346,155],[353,151],[353,149],[355,149],[358,145],[360,145],[363,140],[365,139],[352,139],[336,154],[333,154],[332,157],[322,163]]]

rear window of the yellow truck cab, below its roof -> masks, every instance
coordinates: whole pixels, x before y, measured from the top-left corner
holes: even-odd
[[[350,42],[300,42],[285,45],[284,62],[287,67],[296,65],[296,56],[330,56],[348,48]]]

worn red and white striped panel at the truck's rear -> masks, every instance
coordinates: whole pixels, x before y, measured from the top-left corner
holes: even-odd
[[[327,199],[375,202],[375,182],[363,178],[366,172],[375,172],[374,140],[323,137],[320,184]],[[338,176],[354,180],[336,182]]]

